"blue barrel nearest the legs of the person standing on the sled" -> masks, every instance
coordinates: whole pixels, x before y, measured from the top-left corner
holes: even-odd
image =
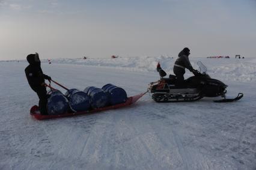
[[[49,115],[66,114],[69,110],[69,100],[59,90],[50,90],[47,99],[47,112]]]

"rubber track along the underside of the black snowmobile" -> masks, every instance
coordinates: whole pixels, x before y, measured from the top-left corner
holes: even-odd
[[[152,99],[158,103],[171,103],[171,102],[194,102],[197,100],[202,99],[203,96],[197,95],[197,96],[189,96],[187,94],[153,94]]]

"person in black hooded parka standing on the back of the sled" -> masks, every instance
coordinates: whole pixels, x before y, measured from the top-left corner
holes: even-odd
[[[32,88],[39,98],[39,111],[41,115],[47,115],[47,91],[44,86],[44,79],[51,80],[50,76],[43,74],[41,69],[41,62],[38,53],[29,54],[26,57],[29,65],[25,68],[26,78],[28,79],[29,86]]]

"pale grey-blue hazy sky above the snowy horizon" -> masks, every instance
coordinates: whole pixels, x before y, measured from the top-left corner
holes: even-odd
[[[256,0],[0,0],[0,60],[256,57]]]

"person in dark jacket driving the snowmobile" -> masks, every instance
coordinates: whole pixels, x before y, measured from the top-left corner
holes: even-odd
[[[185,68],[187,68],[189,71],[191,71],[194,74],[197,74],[198,71],[194,70],[192,65],[189,61],[189,55],[190,50],[189,48],[185,47],[183,50],[181,50],[180,53],[178,53],[178,58],[175,61],[173,72],[177,77],[176,86],[177,87],[186,87],[186,84],[184,82],[184,74],[185,74]]]

